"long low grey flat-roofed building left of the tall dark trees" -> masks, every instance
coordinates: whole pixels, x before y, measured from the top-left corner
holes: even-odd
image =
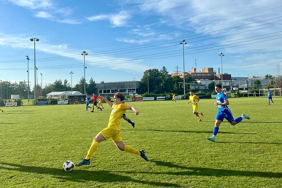
[[[124,95],[137,94],[140,91],[140,81],[100,82],[96,83],[100,95],[113,96],[120,91]]]

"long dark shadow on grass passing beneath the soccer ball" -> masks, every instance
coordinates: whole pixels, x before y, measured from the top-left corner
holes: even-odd
[[[105,170],[89,171],[89,170],[75,169],[72,172],[64,172],[63,169],[58,169],[58,168],[24,166],[20,164],[11,164],[5,162],[0,162],[0,169],[18,171],[18,172],[36,173],[36,174],[50,174],[53,175],[53,177],[55,178],[61,179],[60,182],[66,182],[66,181],[73,181],[73,182],[95,181],[102,183],[120,182],[120,183],[125,183],[125,185],[127,184],[127,182],[132,182],[132,183],[152,185],[153,187],[157,187],[157,186],[179,187],[178,184],[142,181],[139,180],[138,178],[133,179],[132,177],[129,176],[117,174],[117,172],[105,171]]]

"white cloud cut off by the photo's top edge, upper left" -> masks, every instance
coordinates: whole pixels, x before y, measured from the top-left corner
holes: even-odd
[[[49,9],[53,8],[51,0],[9,0],[17,6],[22,6],[28,9]]]

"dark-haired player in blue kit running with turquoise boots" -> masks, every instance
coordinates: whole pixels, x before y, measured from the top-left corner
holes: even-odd
[[[218,112],[215,117],[215,124],[214,124],[214,131],[212,133],[212,137],[206,137],[208,140],[215,142],[215,137],[219,130],[219,125],[225,118],[231,125],[236,125],[239,122],[241,122],[243,119],[250,119],[249,116],[242,114],[241,117],[237,117],[235,120],[231,114],[230,109],[227,105],[229,105],[229,101],[227,96],[221,92],[221,85],[216,84],[215,85],[215,91],[217,93],[216,95],[216,103],[214,103],[215,106],[218,106]]]

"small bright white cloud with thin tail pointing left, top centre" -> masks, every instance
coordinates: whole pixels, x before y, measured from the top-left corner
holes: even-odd
[[[125,26],[132,16],[127,11],[120,11],[118,14],[100,14],[86,17],[89,21],[109,20],[113,27]]]

